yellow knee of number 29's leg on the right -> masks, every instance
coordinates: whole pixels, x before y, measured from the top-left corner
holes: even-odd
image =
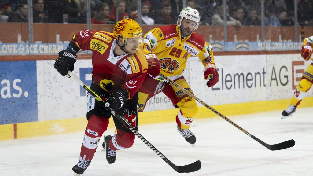
[[[187,118],[194,117],[198,113],[198,105],[191,97],[181,99],[177,106],[180,108],[182,115]]]

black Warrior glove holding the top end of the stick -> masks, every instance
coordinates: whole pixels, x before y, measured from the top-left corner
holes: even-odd
[[[74,70],[76,60],[77,56],[75,53],[68,50],[60,51],[59,57],[54,62],[54,68],[58,70],[62,76],[65,76],[69,70]]]

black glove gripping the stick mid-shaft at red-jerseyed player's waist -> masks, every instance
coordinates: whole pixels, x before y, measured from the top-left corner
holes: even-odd
[[[124,106],[124,102],[128,99],[127,90],[120,88],[118,91],[109,95],[109,98],[104,102],[104,109],[113,109],[114,111]]]

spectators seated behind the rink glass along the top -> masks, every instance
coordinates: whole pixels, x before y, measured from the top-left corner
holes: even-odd
[[[138,20],[138,0],[90,0],[91,23]],[[260,0],[227,0],[227,25],[260,26]],[[298,24],[313,26],[313,0],[297,0]],[[86,23],[86,0],[33,0],[34,23]],[[223,25],[223,0],[187,0],[200,13],[200,25]],[[182,0],[141,0],[141,22],[176,24]],[[293,26],[294,0],[264,0],[266,26]],[[116,13],[116,10],[118,13]],[[116,19],[118,18],[118,19]],[[0,0],[0,22],[27,22],[27,0]]]

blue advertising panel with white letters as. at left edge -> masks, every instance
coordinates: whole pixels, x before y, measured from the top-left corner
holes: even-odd
[[[0,125],[38,120],[36,61],[0,62]]]

